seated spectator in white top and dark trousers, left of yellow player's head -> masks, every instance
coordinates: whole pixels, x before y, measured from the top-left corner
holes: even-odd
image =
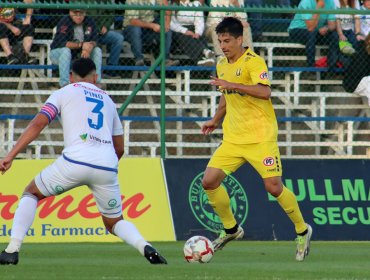
[[[199,7],[198,1],[189,0],[175,1],[181,6],[192,5]],[[180,3],[179,3],[180,2]],[[173,48],[181,50],[199,66],[215,65],[215,53],[211,51],[204,33],[204,14],[201,11],[177,11],[171,17],[171,30]]]

